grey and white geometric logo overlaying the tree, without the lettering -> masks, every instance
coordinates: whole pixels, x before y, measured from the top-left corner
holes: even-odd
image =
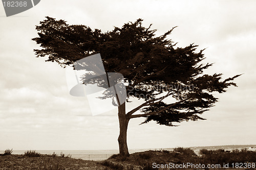
[[[123,75],[106,73],[100,54],[74,62],[66,77],[70,94],[86,97],[93,115],[113,110],[127,98]]]

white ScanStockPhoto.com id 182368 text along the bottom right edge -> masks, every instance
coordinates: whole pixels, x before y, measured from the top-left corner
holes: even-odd
[[[168,164],[152,164],[153,168],[255,168],[254,162],[246,162],[246,163],[223,163],[223,164],[194,164],[194,163],[168,163]]]

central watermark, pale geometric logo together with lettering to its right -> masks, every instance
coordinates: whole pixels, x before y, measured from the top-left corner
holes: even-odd
[[[139,87],[125,86],[123,75],[118,72],[105,72],[100,54],[85,57],[66,68],[68,89],[73,96],[83,96],[93,115],[102,114],[122,105],[127,96],[135,96],[146,101],[163,100],[166,96],[186,99],[186,94],[194,90],[193,85],[174,83],[171,85],[154,84],[139,85]],[[157,96],[158,93],[167,94]]]

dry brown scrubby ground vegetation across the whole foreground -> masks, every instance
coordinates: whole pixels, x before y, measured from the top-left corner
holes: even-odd
[[[36,151],[27,151],[23,155],[11,155],[12,150],[6,150],[0,156],[0,169],[126,169],[148,170],[152,164],[223,164],[232,162],[256,162],[256,152],[243,150],[206,150],[201,149],[199,155],[189,148],[175,148],[174,151],[157,150],[131,154],[128,158],[112,155],[104,161],[89,161],[71,158],[71,155],[42,155]],[[167,169],[167,168],[166,168]],[[173,169],[173,168],[172,168]],[[184,169],[184,168],[183,168]],[[253,168],[250,168],[253,169]]]

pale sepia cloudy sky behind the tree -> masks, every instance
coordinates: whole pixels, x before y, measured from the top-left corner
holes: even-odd
[[[139,125],[131,119],[129,149],[256,144],[256,2],[255,1],[41,1],[34,8],[6,17],[0,5],[0,150],[118,149],[117,109],[92,116],[88,100],[69,94],[65,69],[36,58],[35,26],[46,16],[86,25],[102,32],[143,19],[143,26],[177,46],[204,48],[205,74],[223,79],[243,74],[202,117],[166,127]],[[128,103],[132,110],[142,101]],[[101,107],[101,106],[98,106]]]

